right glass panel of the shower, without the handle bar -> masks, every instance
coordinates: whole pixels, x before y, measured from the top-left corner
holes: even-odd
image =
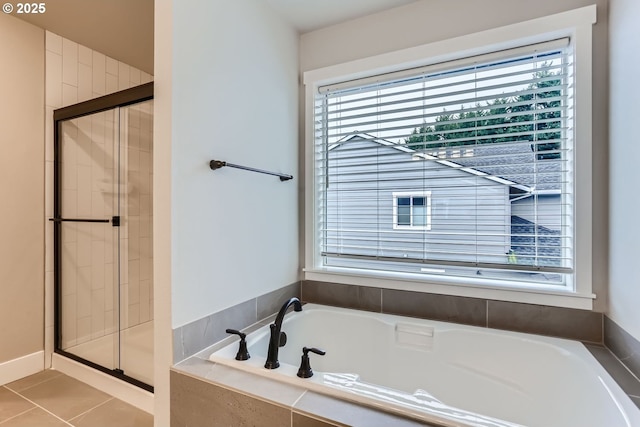
[[[119,113],[120,369],[153,384],[153,100]]]

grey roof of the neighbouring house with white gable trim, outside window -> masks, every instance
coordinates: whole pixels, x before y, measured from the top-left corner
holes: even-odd
[[[354,133],[330,145],[329,150],[347,141],[362,139],[410,154],[413,158],[433,160],[444,166],[509,185],[520,192],[557,194],[560,191],[562,162],[537,160],[528,141],[473,145],[470,147],[473,148],[472,155],[451,158],[446,153],[461,147],[425,152],[366,133]],[[436,151],[438,155],[434,154]],[[445,153],[444,157],[440,153]]]

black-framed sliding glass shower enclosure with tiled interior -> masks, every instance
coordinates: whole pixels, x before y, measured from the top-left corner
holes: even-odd
[[[55,351],[153,391],[153,84],[54,112]]]

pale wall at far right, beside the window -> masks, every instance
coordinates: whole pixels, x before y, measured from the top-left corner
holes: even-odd
[[[640,2],[610,0],[610,234],[608,316],[640,340],[640,227],[636,197]],[[636,354],[640,358],[640,354]]]

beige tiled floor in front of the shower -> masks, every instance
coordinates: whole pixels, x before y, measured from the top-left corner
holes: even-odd
[[[58,371],[0,387],[0,427],[153,427],[153,416]]]

